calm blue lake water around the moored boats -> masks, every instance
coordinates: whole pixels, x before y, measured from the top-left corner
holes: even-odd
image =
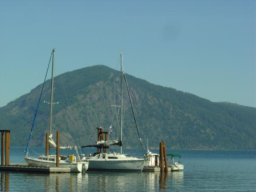
[[[11,148],[10,163],[24,163],[23,150],[24,148]],[[35,148],[36,150],[43,152],[42,148]],[[15,192],[256,191],[256,151],[167,152],[182,154],[183,172],[0,172],[0,188],[1,191]]]

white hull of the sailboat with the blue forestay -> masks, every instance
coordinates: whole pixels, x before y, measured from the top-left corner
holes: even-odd
[[[26,163],[30,166],[37,166],[37,167],[56,167],[56,161],[49,161],[49,160],[41,160],[38,158],[31,158],[31,157],[24,157]],[[82,166],[84,164],[84,169],[88,169],[87,162],[65,162],[60,160],[59,167],[60,168],[70,168],[70,172],[82,172]]]

